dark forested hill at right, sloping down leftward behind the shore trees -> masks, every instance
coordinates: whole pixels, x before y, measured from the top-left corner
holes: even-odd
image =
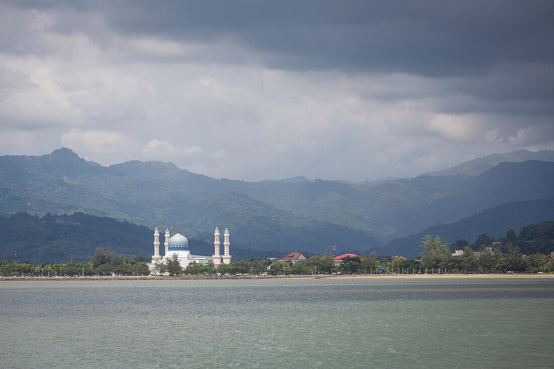
[[[483,233],[490,237],[499,238],[508,229],[517,230],[530,223],[539,223],[550,219],[554,219],[554,198],[509,202],[474,214],[471,217],[460,219],[455,223],[434,225],[408,237],[393,239],[386,246],[370,251],[378,254],[415,258],[422,251],[419,247],[421,240],[428,234],[438,235],[448,243],[453,243],[458,239],[465,239],[469,243],[473,243]],[[554,240],[550,245],[546,243],[536,245],[525,243],[520,246],[525,249],[527,254],[535,252],[550,254],[551,251],[554,251]],[[529,249],[530,247],[532,249]]]

